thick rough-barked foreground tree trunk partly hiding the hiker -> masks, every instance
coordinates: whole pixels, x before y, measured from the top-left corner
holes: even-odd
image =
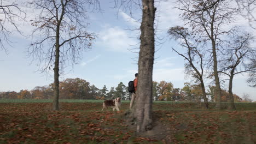
[[[136,92],[137,132],[152,129],[152,75],[155,52],[154,0],[142,0],[141,46],[138,61],[138,89]]]

